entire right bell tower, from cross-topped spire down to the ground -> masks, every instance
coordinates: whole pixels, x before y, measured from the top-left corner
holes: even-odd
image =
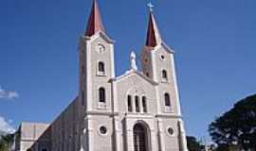
[[[176,131],[179,138],[178,142],[174,143],[179,145],[181,151],[188,151],[181,119],[174,50],[161,38],[152,5],[150,5],[149,11],[146,43],[141,52],[140,61],[143,74],[158,84],[155,95],[159,150],[172,150],[170,145],[172,139],[165,135],[165,131],[168,131],[169,134]],[[170,125],[173,125],[173,128],[170,128]]]

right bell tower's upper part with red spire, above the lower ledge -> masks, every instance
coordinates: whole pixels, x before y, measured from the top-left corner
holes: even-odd
[[[159,84],[158,100],[160,102],[157,112],[180,115],[174,51],[163,42],[152,9],[149,11],[146,44],[143,47],[140,59],[143,74]]]

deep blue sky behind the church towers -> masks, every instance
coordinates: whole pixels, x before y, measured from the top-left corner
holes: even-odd
[[[129,68],[130,51],[139,54],[145,42],[147,3],[99,0],[107,34],[116,41],[117,75]],[[256,93],[256,1],[153,3],[161,35],[176,52],[186,129],[200,138],[216,116]],[[6,127],[50,122],[75,98],[78,42],[90,8],[90,0],[0,2],[0,117]]]

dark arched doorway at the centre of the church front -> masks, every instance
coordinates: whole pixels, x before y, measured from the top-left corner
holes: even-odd
[[[148,151],[148,134],[145,126],[137,124],[134,126],[135,151]]]

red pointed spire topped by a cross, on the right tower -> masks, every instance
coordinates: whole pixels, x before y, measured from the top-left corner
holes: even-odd
[[[150,10],[149,14],[149,25],[147,32],[146,46],[155,47],[162,42],[158,27],[155,23],[155,17],[153,10]]]

